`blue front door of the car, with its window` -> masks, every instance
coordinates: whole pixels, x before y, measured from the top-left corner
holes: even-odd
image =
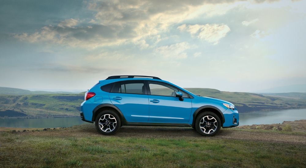
[[[149,122],[187,123],[191,115],[191,99],[183,93],[184,100],[175,97],[179,91],[164,82],[148,81]]]

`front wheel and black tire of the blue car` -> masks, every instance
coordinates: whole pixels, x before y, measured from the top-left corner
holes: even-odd
[[[213,112],[205,111],[196,118],[196,131],[202,136],[214,136],[221,128],[221,120]]]

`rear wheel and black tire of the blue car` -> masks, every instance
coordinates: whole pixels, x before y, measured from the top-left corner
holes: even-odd
[[[101,111],[95,119],[95,127],[103,135],[114,135],[120,126],[120,118],[113,110]]]

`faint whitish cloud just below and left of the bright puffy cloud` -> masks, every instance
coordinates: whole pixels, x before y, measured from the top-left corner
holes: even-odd
[[[164,58],[187,58],[185,50],[192,48],[187,42],[176,43],[168,46],[160,46],[155,49],[156,53],[161,54]]]

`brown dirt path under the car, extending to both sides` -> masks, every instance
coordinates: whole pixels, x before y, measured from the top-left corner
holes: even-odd
[[[94,124],[73,126],[47,131],[26,131],[21,134],[48,135],[57,137],[103,136],[95,130]],[[122,126],[114,135],[116,137],[166,138],[166,139],[233,139],[247,141],[267,141],[275,143],[306,144],[306,134],[286,134],[278,132],[253,132],[247,130],[221,129],[214,137],[203,137],[191,127],[151,127]]]

